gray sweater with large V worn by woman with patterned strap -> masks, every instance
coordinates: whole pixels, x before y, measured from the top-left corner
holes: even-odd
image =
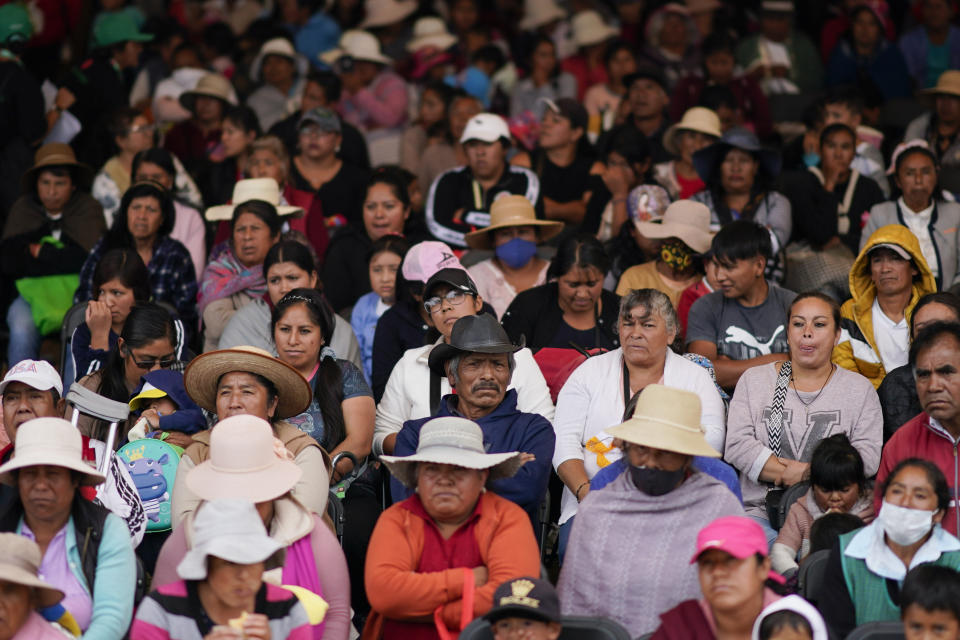
[[[740,376],[727,413],[724,459],[740,471],[747,514],[762,518],[767,517],[765,499],[770,487],[758,478],[764,463],[774,455],[769,446],[767,421],[776,383],[776,363],[747,369]],[[837,367],[819,396],[814,391],[801,392],[798,397],[794,389],[788,388],[782,429],[780,455],[783,458],[810,462],[813,450],[822,439],[845,433],[860,452],[867,477],[877,473],[883,445],[883,416],[877,392],[859,373]]]

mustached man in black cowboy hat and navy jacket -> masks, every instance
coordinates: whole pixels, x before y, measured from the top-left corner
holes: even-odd
[[[547,490],[556,435],[543,416],[519,411],[516,390],[507,389],[516,366],[513,354],[522,348],[511,344],[503,327],[489,314],[457,320],[449,342],[438,344],[429,357],[430,369],[446,377],[456,393],[443,397],[435,415],[405,422],[393,453],[406,456],[416,452],[420,428],[432,418],[460,416],[473,420],[483,431],[487,453],[526,454],[527,461],[515,476],[497,480],[490,488],[523,507],[536,531],[537,510]],[[410,494],[396,480],[391,481],[391,490],[394,501]]]

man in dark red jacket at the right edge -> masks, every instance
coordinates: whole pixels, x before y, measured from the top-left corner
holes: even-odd
[[[950,488],[950,504],[941,524],[957,535],[960,511],[957,509],[957,475],[960,464],[960,324],[936,322],[925,327],[910,347],[910,366],[917,381],[917,396],[923,413],[897,429],[880,456],[876,486],[882,487],[898,463],[922,458],[937,465]],[[874,496],[879,512],[883,494]]]

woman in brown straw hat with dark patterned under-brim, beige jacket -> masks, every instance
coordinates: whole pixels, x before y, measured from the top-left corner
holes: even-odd
[[[270,422],[274,437],[302,472],[291,489],[293,496],[313,513],[326,513],[330,458],[316,440],[286,420],[306,411],[313,397],[310,384],[299,371],[262,349],[237,347],[194,358],[183,373],[183,384],[190,398],[219,420],[251,415]],[[212,455],[213,431],[195,434],[193,444],[180,458],[172,492],[174,526],[196,510],[203,497],[183,478]]]

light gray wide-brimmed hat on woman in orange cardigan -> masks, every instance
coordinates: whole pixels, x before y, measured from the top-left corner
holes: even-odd
[[[445,416],[434,418],[420,429],[417,452],[411,456],[380,456],[393,477],[405,487],[417,486],[417,464],[433,462],[452,464],[467,469],[489,469],[490,477],[509,478],[522,464],[520,452],[487,453],[483,448],[483,432],[472,420]]]

